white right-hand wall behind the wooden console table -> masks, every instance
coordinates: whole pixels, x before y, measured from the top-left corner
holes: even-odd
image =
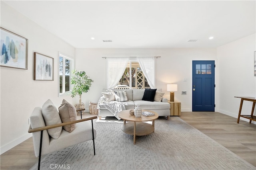
[[[254,51],[256,34],[217,48],[218,56],[218,111],[238,117],[240,98],[255,97]],[[250,114],[252,102],[245,101],[242,114]],[[242,118],[243,119],[243,118]],[[249,121],[248,119],[243,119]],[[255,123],[253,121],[253,123]]]

